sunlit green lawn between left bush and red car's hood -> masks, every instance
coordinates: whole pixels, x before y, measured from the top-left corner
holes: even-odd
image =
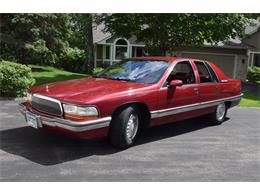
[[[86,74],[79,74],[68,72],[64,70],[59,70],[50,66],[37,66],[29,65],[32,68],[33,77],[36,80],[34,85],[41,85],[45,83],[52,83],[56,81],[64,81],[70,79],[78,79],[88,77]]]

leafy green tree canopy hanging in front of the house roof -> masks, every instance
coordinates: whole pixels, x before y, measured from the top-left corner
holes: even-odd
[[[149,53],[166,55],[178,46],[200,46],[243,36],[259,14],[102,14],[106,31],[146,43]]]

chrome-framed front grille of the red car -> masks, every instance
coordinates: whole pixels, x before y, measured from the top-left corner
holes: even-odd
[[[56,116],[62,115],[60,101],[47,96],[34,94],[32,96],[32,107],[40,112],[44,112],[47,114]]]

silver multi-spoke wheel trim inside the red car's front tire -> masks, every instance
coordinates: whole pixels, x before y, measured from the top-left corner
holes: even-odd
[[[139,126],[139,119],[137,114],[131,114],[126,124],[126,138],[132,141],[137,133]]]

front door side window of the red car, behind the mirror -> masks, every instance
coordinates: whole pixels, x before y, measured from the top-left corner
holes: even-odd
[[[195,83],[194,72],[189,61],[179,62],[174,66],[167,78],[167,84],[172,80],[181,80],[184,85]]]

